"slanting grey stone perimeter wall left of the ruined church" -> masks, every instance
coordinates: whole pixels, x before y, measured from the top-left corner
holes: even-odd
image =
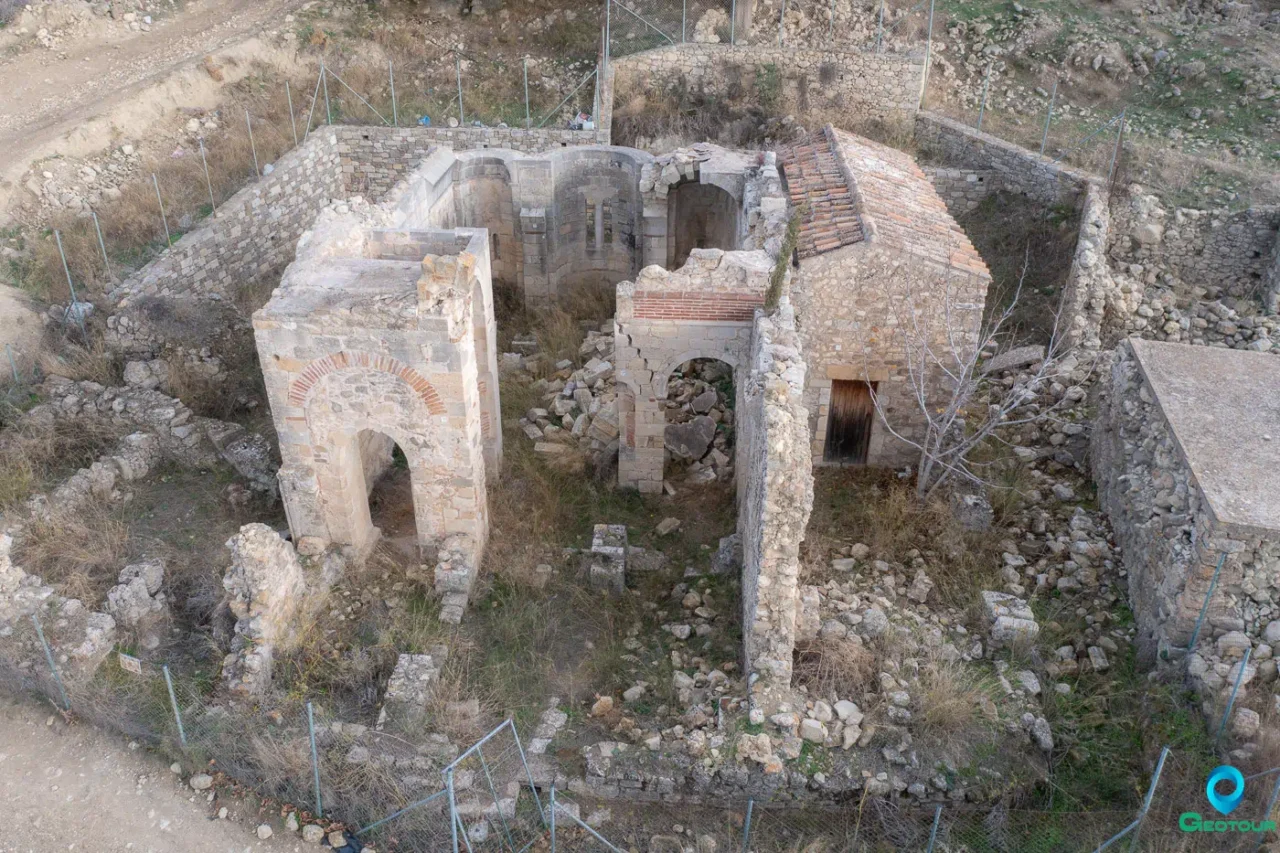
[[[122,307],[142,296],[230,298],[239,284],[279,273],[315,215],[344,195],[337,129],[314,132],[110,297]]]

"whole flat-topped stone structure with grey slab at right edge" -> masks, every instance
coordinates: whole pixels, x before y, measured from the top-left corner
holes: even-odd
[[[1100,391],[1093,475],[1148,662],[1225,698],[1280,643],[1280,371],[1222,347],[1130,339]],[[1270,679],[1267,679],[1270,680]]]

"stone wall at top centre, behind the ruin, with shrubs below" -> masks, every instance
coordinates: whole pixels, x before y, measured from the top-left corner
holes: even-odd
[[[924,81],[923,56],[684,44],[613,60],[613,91],[626,97],[680,83],[726,96],[764,65],[781,78],[780,113],[838,111],[846,120],[909,118]]]

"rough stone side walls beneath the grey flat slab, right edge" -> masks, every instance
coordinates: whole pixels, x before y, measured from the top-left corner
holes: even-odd
[[[1231,666],[1252,644],[1251,666],[1274,678],[1272,649],[1280,643],[1280,532],[1262,535],[1213,520],[1128,343],[1116,348],[1098,405],[1093,476],[1129,570],[1139,654],[1147,665],[1185,660],[1192,683],[1217,694],[1230,689]],[[1204,625],[1188,653],[1222,555]]]

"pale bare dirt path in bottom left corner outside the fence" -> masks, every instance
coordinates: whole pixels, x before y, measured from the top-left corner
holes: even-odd
[[[305,845],[261,841],[252,815],[228,820],[152,757],[92,726],[47,725],[47,710],[0,698],[0,853],[285,853]],[[183,777],[184,779],[184,777]],[[311,848],[315,849],[315,848]]]

